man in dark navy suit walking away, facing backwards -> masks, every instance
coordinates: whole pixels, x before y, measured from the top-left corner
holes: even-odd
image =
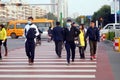
[[[63,28],[60,26],[60,22],[56,22],[56,27],[53,28],[52,35],[55,42],[56,54],[59,58],[61,58],[63,44]]]

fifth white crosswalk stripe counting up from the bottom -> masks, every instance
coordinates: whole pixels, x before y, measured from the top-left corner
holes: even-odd
[[[27,59],[27,58],[21,58],[21,59],[20,59],[20,58],[18,58],[18,59],[17,59],[17,58],[3,58],[3,60],[8,60],[8,61],[10,61],[10,60],[15,60],[15,61],[17,61],[17,60],[28,60],[28,59]],[[44,61],[44,60],[45,60],[45,61],[46,61],[46,60],[55,60],[55,61],[56,61],[56,60],[57,60],[57,61],[65,60],[65,61],[66,61],[66,59],[58,59],[58,58],[57,58],[57,59],[52,59],[52,58],[51,58],[51,59],[45,59],[45,58],[43,58],[43,59],[41,59],[41,58],[38,59],[38,58],[37,58],[37,59],[35,59],[35,60],[43,60],[43,61]],[[75,61],[81,61],[81,60],[91,61],[90,59],[75,59]],[[94,60],[96,60],[96,59],[94,59]]]

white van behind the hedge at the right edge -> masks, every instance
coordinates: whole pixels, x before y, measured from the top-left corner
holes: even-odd
[[[100,36],[110,30],[120,30],[120,23],[109,23],[100,30]]]

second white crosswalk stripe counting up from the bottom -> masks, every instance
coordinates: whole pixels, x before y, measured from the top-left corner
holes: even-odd
[[[96,72],[95,69],[0,69],[0,72]]]

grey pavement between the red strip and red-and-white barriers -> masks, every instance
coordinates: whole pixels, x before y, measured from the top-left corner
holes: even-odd
[[[115,52],[113,50],[113,43],[110,41],[103,42],[103,45],[108,53],[114,78],[115,80],[120,80],[120,52]]]

